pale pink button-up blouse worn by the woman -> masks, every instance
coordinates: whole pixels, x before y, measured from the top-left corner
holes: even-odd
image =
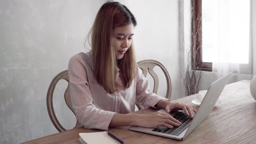
[[[68,76],[78,126],[107,130],[115,113],[134,112],[136,102],[144,107],[154,107],[165,99],[150,92],[142,70],[137,67],[136,71],[136,78],[129,88],[108,93],[95,79],[91,51],[74,55],[69,60]],[[116,81],[121,81],[119,73]]]

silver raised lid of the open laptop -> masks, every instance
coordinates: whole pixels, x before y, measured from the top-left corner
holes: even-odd
[[[226,83],[228,83],[231,74],[232,72],[221,77],[217,81],[214,81],[208,88],[205,98],[203,98],[202,103],[197,110],[193,121],[189,125],[189,128],[185,133],[183,139],[185,139],[199,124],[201,124],[210,115]]]

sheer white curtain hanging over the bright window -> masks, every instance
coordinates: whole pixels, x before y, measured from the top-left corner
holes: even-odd
[[[255,0],[202,1],[203,62],[213,62],[217,74],[255,74],[253,7]]]

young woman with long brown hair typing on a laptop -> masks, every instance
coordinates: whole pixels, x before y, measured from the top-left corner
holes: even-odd
[[[193,107],[150,92],[148,80],[135,61],[132,35],[136,25],[125,5],[103,4],[91,29],[92,50],[70,59],[71,100],[79,126],[102,130],[128,125],[173,128],[181,124],[167,114],[174,109],[193,117]],[[135,103],[163,108],[167,113],[135,115],[131,113]]]

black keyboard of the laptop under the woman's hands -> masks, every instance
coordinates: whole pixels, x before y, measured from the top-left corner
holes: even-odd
[[[195,115],[195,112],[194,112],[194,115]],[[177,112],[176,115],[173,116],[173,118],[182,122],[182,125],[179,126],[179,127],[173,127],[172,129],[169,129],[169,128],[166,128],[166,127],[156,127],[152,131],[178,136],[185,129],[187,129],[189,124],[192,122],[192,118],[190,118],[190,116],[186,115],[186,113],[184,111]]]

